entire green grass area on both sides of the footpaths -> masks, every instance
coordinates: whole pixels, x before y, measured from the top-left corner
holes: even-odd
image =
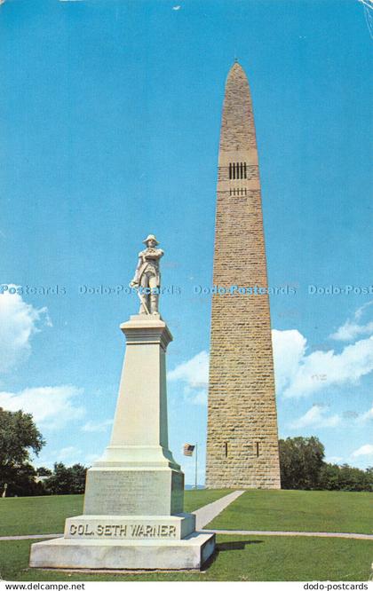
[[[229,491],[188,491],[191,511]],[[367,532],[373,495],[306,491],[247,491],[210,524],[219,529]],[[58,533],[67,516],[82,512],[80,495],[0,500],[0,535]],[[28,568],[30,540],[0,542],[5,580],[344,580],[366,581],[373,541],[260,535],[218,535],[217,552],[203,572],[90,574]]]

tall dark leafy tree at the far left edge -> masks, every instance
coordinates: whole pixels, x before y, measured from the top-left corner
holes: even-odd
[[[7,496],[41,493],[36,485],[36,470],[29,464],[45,444],[32,414],[0,408],[0,493],[7,485]]]

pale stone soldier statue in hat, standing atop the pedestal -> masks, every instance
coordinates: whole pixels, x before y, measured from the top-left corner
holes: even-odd
[[[158,314],[159,288],[161,273],[159,259],[163,256],[162,248],[156,248],[159,242],[154,234],[149,234],[143,243],[147,248],[139,252],[139,262],[130,287],[137,288],[141,305],[139,314]]]

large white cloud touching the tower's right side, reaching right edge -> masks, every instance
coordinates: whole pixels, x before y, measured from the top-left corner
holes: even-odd
[[[341,353],[313,351],[298,330],[273,331],[277,393],[300,398],[329,386],[356,384],[373,370],[373,336],[345,346]]]

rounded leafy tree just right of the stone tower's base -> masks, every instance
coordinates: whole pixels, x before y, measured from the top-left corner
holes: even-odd
[[[317,437],[280,439],[282,488],[312,490],[319,488],[324,446]]]

